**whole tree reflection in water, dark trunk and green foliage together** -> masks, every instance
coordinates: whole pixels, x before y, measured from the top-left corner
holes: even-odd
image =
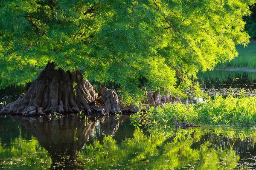
[[[26,141],[20,136],[19,141],[17,138],[11,141],[10,149],[0,146],[0,167],[8,167],[9,164],[1,163],[7,160],[15,162],[15,167],[25,164],[33,169],[233,169],[239,160],[236,152],[241,156],[241,152],[248,150],[249,145],[254,146],[256,141],[254,131],[229,127],[228,130],[179,128],[176,133],[152,133],[151,136],[135,130],[132,138],[117,142],[114,140],[117,136],[108,134],[113,134],[119,122],[109,117],[101,122],[102,128],[108,128],[103,142],[95,140],[93,144],[84,145],[98,122],[89,120],[85,124],[81,119],[67,117],[42,123],[27,117],[12,116],[12,119],[21,122],[38,140]]]

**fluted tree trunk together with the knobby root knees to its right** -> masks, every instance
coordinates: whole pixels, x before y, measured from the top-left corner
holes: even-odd
[[[145,89],[144,89],[145,90]],[[175,102],[177,99],[165,97],[161,99],[160,91],[150,92],[146,104],[152,106],[164,102]],[[180,101],[180,100],[179,100]],[[26,94],[12,103],[3,102],[0,113],[12,113],[23,116],[44,115],[46,113],[101,113],[117,114],[122,111],[134,113],[138,107],[125,107],[119,102],[117,94],[108,88],[101,88],[96,95],[93,86],[84,79],[80,71],[64,71],[55,69],[54,63],[48,63],[39,77],[32,83]]]

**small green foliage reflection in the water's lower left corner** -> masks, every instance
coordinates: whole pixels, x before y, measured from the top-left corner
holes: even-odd
[[[0,146],[0,167],[3,169],[37,170],[47,169],[50,166],[49,154],[36,139],[26,141],[18,137],[17,140],[12,141],[11,147]]]

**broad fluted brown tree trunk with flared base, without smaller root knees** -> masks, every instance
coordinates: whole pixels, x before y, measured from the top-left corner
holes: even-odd
[[[55,70],[54,63],[48,63],[27,93],[6,105],[1,113],[91,113],[90,102],[96,98],[93,86],[80,71]]]

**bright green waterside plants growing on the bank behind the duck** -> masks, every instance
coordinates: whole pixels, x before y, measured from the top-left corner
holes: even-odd
[[[142,124],[151,129],[169,129],[178,122],[213,125],[256,125],[256,97],[232,95],[226,98],[215,96],[198,104],[164,104],[151,107],[143,116],[131,116],[134,125]]]

